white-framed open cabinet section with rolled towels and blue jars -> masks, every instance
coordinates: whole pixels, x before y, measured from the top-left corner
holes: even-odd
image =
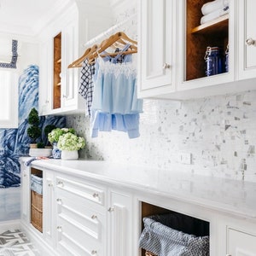
[[[177,15],[179,25],[177,60],[180,61],[177,63],[177,90],[207,87],[208,91],[206,90],[205,94],[210,95],[213,92],[212,85],[233,82],[235,79],[235,1],[230,0],[227,14],[204,23],[207,13],[205,16],[202,14],[202,7],[208,2],[208,0],[178,1],[177,13],[180,15]],[[224,6],[222,8],[224,9]],[[228,45],[227,65],[225,52]],[[217,51],[215,52],[214,49]],[[215,54],[221,61],[216,61]],[[207,55],[209,61],[206,60]],[[190,93],[193,95],[193,91]]]

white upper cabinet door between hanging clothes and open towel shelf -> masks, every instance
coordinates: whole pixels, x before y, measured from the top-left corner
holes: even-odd
[[[140,0],[138,96],[172,89],[173,1]]]

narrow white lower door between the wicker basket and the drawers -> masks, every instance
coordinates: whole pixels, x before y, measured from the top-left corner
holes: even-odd
[[[44,172],[43,177],[43,234],[45,240],[53,246],[55,240],[55,218],[53,218],[55,216],[55,175],[54,172],[47,171]]]

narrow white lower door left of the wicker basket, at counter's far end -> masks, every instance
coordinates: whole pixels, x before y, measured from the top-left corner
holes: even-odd
[[[26,224],[30,223],[30,167],[24,166],[24,163],[20,164],[20,186],[21,186],[21,204],[20,213],[21,220]]]

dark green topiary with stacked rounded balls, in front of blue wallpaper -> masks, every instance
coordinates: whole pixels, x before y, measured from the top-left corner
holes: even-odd
[[[30,148],[37,148],[37,139],[41,136],[42,131],[38,127],[40,119],[38,116],[38,110],[36,108],[31,109],[30,113],[28,114],[27,122],[30,125],[26,131],[28,137],[31,138]]]

